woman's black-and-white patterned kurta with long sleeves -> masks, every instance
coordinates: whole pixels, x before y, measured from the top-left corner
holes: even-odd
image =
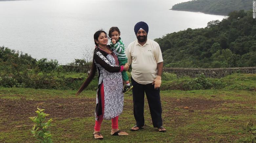
[[[105,56],[103,56],[103,54]],[[94,61],[99,72],[98,87],[100,87],[102,82],[104,85],[105,108],[104,108],[103,119],[107,119],[107,120],[113,119],[119,116],[123,111],[124,94],[122,92],[123,90],[122,74],[121,72],[117,72],[117,71],[110,72],[103,68],[104,64],[108,64],[107,66],[111,66],[112,68],[119,67],[117,57],[116,58],[114,57],[116,55],[113,56],[111,54],[106,54],[105,51],[98,50],[95,52],[95,56],[98,56],[100,58],[100,63],[97,63],[96,60]],[[99,89],[97,89],[96,104],[100,103],[98,101],[98,96],[99,96],[98,93],[99,93]],[[98,119],[98,116],[96,114],[96,120],[97,119]]]

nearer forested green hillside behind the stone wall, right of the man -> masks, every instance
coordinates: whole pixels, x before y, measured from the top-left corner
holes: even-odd
[[[165,67],[225,68],[256,66],[256,21],[240,10],[210,21],[205,28],[174,32],[155,39]]]

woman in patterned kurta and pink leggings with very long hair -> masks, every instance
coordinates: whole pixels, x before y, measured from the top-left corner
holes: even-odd
[[[94,34],[95,50],[91,72],[77,91],[76,95],[83,91],[95,76],[96,69],[99,73],[99,82],[96,98],[96,121],[94,138],[102,139],[100,125],[103,119],[112,120],[111,135],[128,135],[118,129],[118,116],[123,110],[123,82],[122,71],[127,71],[129,66],[118,66],[117,56],[107,45],[108,37],[105,31],[99,30]]]

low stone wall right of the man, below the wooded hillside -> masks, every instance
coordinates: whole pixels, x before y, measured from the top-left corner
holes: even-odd
[[[243,68],[164,68],[163,71],[177,74],[177,76],[196,77],[197,74],[204,73],[206,77],[221,78],[232,73],[256,73],[256,67]]]

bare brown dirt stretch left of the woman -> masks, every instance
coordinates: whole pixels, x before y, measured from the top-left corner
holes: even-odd
[[[53,99],[45,101],[33,100],[6,100],[0,99],[0,110],[3,111],[1,116],[8,117],[11,120],[24,120],[35,116],[36,107],[45,109],[51,118],[75,118],[88,117],[94,115],[93,106],[95,106],[94,99]]]

